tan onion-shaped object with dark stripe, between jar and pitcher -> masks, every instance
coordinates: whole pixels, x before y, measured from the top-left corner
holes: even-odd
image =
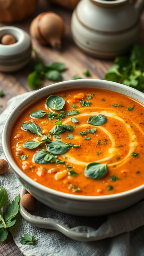
[[[31,36],[40,44],[50,44],[53,48],[60,48],[63,33],[64,21],[56,13],[41,13],[30,24]]]

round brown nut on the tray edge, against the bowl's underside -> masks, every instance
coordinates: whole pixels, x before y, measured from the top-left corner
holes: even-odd
[[[33,211],[37,207],[37,200],[31,194],[22,197],[22,205],[25,209]]]

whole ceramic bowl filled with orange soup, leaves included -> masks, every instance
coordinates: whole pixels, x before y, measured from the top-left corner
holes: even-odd
[[[5,156],[39,201],[69,214],[104,215],[144,196],[144,94],[96,79],[37,90],[9,114]]]

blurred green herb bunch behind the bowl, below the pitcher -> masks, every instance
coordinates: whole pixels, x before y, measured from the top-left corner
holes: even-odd
[[[144,47],[134,45],[129,56],[119,56],[114,62],[105,74],[105,80],[144,92]]]

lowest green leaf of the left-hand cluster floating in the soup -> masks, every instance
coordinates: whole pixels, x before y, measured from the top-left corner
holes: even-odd
[[[57,156],[49,154],[46,150],[40,150],[35,154],[34,160],[38,164],[54,163],[57,161]]]

